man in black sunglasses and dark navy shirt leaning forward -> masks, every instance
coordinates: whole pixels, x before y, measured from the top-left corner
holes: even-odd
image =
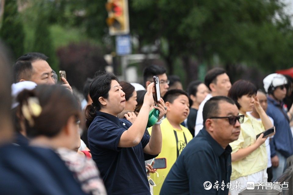
[[[177,158],[161,195],[228,195],[226,186],[232,172],[229,143],[238,139],[244,115],[239,115],[232,99],[216,96],[205,103],[203,120],[204,128]]]

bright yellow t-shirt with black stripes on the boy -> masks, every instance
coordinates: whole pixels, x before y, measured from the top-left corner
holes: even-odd
[[[166,158],[167,167],[164,169],[157,169],[159,177],[157,177],[156,173],[150,173],[150,177],[157,185],[153,187],[154,195],[158,195],[160,193],[163,182],[172,165],[175,163],[177,157],[181,154],[186,144],[193,138],[190,131],[186,127],[180,125],[182,130],[175,129],[172,127],[167,118],[162,120],[160,126],[162,132],[162,149],[161,153],[156,158]],[[148,131],[151,134],[152,128],[148,128]]]

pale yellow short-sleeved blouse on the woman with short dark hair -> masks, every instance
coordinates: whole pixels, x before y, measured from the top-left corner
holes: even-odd
[[[265,130],[261,121],[257,121],[251,116],[244,117],[241,124],[241,132],[238,140],[230,143],[232,154],[240,148],[246,148],[256,141],[256,135]],[[240,161],[232,162],[231,180],[235,180],[242,176],[248,176],[267,168],[266,143],[263,143],[255,151],[251,152],[247,157]]]

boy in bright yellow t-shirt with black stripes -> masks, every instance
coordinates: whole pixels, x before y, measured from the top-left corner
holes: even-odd
[[[193,138],[190,131],[180,125],[189,115],[188,94],[183,90],[169,90],[164,96],[167,107],[166,118],[161,123],[162,149],[156,158],[166,158],[167,167],[157,169],[157,173],[150,174],[155,186],[154,195],[160,193],[163,182],[186,144]],[[151,134],[152,129],[148,129]]]

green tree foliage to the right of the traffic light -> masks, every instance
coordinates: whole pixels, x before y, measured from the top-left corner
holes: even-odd
[[[136,0],[130,6],[132,32],[145,42],[168,41],[171,70],[178,56],[211,66],[217,55],[226,68],[239,62],[269,71],[292,65],[292,26],[278,0]]]

